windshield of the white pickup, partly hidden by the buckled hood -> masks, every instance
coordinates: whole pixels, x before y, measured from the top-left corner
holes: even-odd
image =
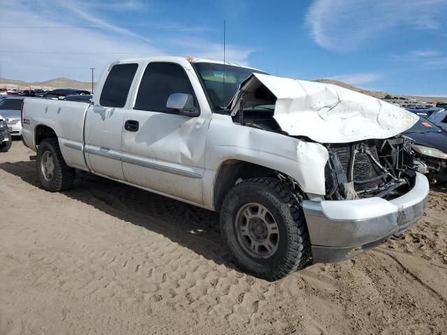
[[[203,81],[213,112],[223,110],[235,95],[241,82],[251,73],[264,73],[251,68],[214,63],[191,63]],[[225,82],[225,83],[224,83]]]

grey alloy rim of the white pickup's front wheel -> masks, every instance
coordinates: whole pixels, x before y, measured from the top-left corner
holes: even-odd
[[[240,208],[235,232],[240,246],[255,258],[269,258],[277,251],[278,225],[270,211],[261,204],[250,203]]]

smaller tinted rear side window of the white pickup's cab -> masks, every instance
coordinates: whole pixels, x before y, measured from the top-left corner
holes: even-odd
[[[99,104],[104,107],[124,107],[138,64],[117,64],[104,82]]]

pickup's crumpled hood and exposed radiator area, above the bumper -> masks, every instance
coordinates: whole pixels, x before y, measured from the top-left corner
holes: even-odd
[[[418,117],[400,107],[330,84],[254,73],[230,111],[237,124],[322,144],[329,154],[325,200],[388,200],[414,184],[418,166],[400,134]]]

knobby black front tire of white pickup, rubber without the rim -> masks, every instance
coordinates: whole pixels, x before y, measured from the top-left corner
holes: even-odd
[[[236,217],[247,204],[261,204],[277,224],[278,242],[268,258],[254,257],[237,236]],[[311,255],[309,232],[302,207],[288,184],[275,178],[242,181],[230,189],[223,200],[221,233],[237,265],[249,274],[276,281],[305,267]],[[248,227],[248,224],[247,224]]]

